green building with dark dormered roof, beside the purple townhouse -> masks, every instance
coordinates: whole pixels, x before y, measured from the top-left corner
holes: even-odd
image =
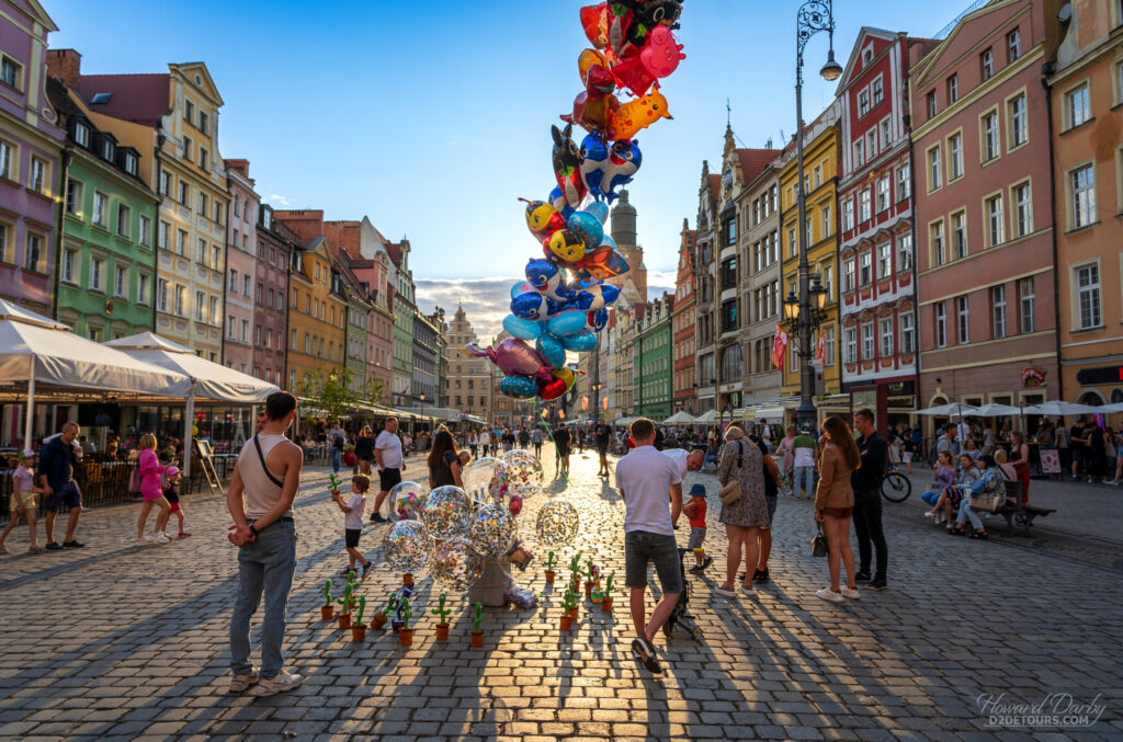
[[[91,113],[54,77],[47,91],[66,129],[55,317],[99,342],[152,330],[159,196],[144,180],[150,163],[118,140],[128,140],[134,125],[117,129],[118,119]]]

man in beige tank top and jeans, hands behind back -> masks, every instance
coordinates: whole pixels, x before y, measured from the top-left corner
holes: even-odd
[[[296,397],[271,394],[265,422],[246,441],[234,469],[226,502],[234,517],[230,543],[238,547],[238,597],[230,616],[230,693],[250,686],[255,696],[292,690],[303,678],[284,671],[284,642],[289,592],[296,569],[296,526],[292,502],[300,487],[304,456],[285,438],[296,412]],[[249,620],[265,593],[262,620],[261,675],[249,661]]]

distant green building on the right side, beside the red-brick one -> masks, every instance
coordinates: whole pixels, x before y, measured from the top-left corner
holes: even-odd
[[[673,297],[664,294],[650,304],[637,304],[636,324],[636,414],[656,422],[672,415],[672,328]]]

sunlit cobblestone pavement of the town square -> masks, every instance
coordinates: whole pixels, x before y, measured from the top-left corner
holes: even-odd
[[[593,476],[595,467],[594,457],[575,455],[565,496],[582,514],[583,555],[622,578],[623,504]],[[407,475],[419,473],[414,466]],[[810,556],[811,504],[782,498],[773,584],[758,598],[729,601],[711,595],[725,547],[716,480],[692,474],[687,484],[701,480],[710,492],[706,546],[718,559],[690,580],[701,639],[660,635],[657,642],[665,676],[650,676],[629,654],[623,592],[615,613],[585,603],[579,626],[559,632],[559,599],[545,589],[540,550],[519,576],[544,594],[540,606],[487,611],[483,649],[468,647],[463,599],[453,605],[450,639],[436,641],[431,581],[423,576],[413,647],[381,631],[356,644],[320,620],[322,583],[343,564],[341,514],[328,501],[326,479],[326,470],[310,471],[296,503],[300,562],[285,645],[289,667],[307,676],[301,688],[273,698],[226,694],[236,577],[222,500],[185,498],[194,535],[164,547],[130,546],[137,506],[112,507],[83,519],[85,549],[0,560],[0,738],[1123,735],[1123,576],[1110,569],[948,538],[915,515],[891,513],[889,589],[828,604],[814,597],[825,584],[825,561]],[[528,501],[522,521],[532,523],[545,501]],[[887,512],[895,507],[887,505]],[[386,528],[368,525],[363,537],[380,562]],[[19,531],[9,541],[13,551],[25,544]],[[380,567],[364,586],[372,603],[400,583]],[[1105,709],[1087,729],[988,726],[977,700],[993,695],[1040,704],[1050,694]]]

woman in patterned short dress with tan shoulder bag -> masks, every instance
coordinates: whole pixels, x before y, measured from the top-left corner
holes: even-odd
[[[759,558],[759,530],[768,528],[768,504],[765,501],[764,457],[760,449],[746,440],[745,431],[736,425],[725,431],[718,482],[721,483],[721,515],[718,522],[725,524],[729,555],[725,559],[725,581],[716,588],[716,593],[737,597],[733,583],[741,566],[741,548],[745,548],[745,564],[751,565],[755,570]],[[756,594],[751,574],[746,574],[741,592]]]

